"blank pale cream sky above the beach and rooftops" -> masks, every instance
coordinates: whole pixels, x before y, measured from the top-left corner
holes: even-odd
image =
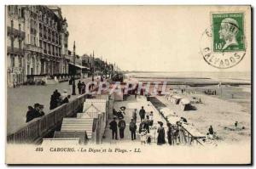
[[[122,70],[250,71],[250,50],[238,65],[226,70],[213,68],[203,59],[201,36],[210,27],[210,12],[215,8],[60,7],[62,16],[67,18],[68,48],[73,50],[76,41],[76,54],[94,51],[96,57],[116,63]],[[249,33],[248,30],[247,37]]]

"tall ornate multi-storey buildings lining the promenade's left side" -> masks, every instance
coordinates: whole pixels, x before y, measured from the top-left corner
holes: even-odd
[[[68,73],[67,20],[57,6],[10,5],[8,86]],[[13,47],[12,47],[13,45]]]

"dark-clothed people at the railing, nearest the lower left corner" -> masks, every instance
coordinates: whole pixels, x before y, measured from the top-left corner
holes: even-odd
[[[41,117],[44,115],[44,105],[43,104],[34,104],[34,107],[29,105],[26,112],[26,122],[32,121],[35,118]]]

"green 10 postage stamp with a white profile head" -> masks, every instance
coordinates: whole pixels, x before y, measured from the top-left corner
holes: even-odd
[[[212,14],[213,52],[245,51],[244,14]]]

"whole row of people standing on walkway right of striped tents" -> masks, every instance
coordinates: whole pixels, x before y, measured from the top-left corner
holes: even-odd
[[[110,129],[112,130],[112,138],[118,139],[117,132],[119,129],[119,138],[122,139],[124,138],[124,131],[126,127],[124,121],[125,110],[120,109],[119,111],[116,111],[113,109],[113,115],[113,121],[109,123]],[[183,132],[183,128],[181,127],[181,123],[179,121],[177,121],[177,124],[175,125],[167,122],[166,131],[165,127],[163,127],[164,124],[161,121],[158,121],[159,127],[154,126],[154,115],[152,111],[147,115],[146,111],[142,107],[141,110],[139,110],[139,115],[140,124],[137,130],[137,109],[132,112],[132,119],[129,124],[131,140],[135,140],[138,134],[141,138],[142,144],[151,144],[152,137],[156,139],[155,141],[158,145],[166,144],[166,138],[168,140],[168,144],[170,145],[174,145],[182,141],[180,132]],[[119,119],[119,121],[117,121],[117,119]],[[187,120],[183,118],[181,121],[186,122]],[[157,137],[155,136],[156,133]]]

